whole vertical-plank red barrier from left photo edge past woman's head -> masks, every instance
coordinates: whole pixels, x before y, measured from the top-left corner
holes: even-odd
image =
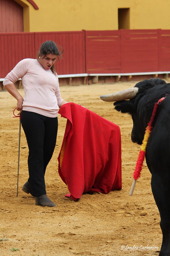
[[[58,74],[86,73],[84,32],[0,33],[0,78],[23,58],[37,58],[42,42],[53,40],[64,49],[56,64]]]

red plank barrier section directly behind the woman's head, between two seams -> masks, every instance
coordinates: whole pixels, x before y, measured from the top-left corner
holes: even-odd
[[[57,74],[86,73],[84,32],[37,32],[35,33],[35,50],[42,42],[52,40],[64,49],[63,60],[56,64]],[[60,48],[60,47],[59,47]]]

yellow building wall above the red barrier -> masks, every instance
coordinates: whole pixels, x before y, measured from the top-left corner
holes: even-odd
[[[27,0],[24,31],[117,30],[118,8],[130,8],[129,29],[170,29],[170,0]]]

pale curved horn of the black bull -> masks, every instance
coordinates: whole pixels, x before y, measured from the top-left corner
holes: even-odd
[[[128,89],[119,91],[119,92],[101,95],[100,98],[101,100],[109,101],[109,102],[120,101],[120,100],[131,100],[135,98],[137,92],[138,92],[138,88],[133,87],[133,88],[128,88]]]

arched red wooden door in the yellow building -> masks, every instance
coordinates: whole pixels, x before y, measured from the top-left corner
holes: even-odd
[[[13,0],[0,0],[0,32],[23,31],[23,8]]]

